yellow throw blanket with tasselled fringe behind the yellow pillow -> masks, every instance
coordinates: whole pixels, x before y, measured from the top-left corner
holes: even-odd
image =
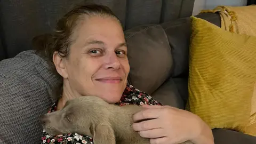
[[[256,5],[250,6],[217,6],[213,10],[201,13],[218,12],[221,16],[221,28],[236,34],[256,36]],[[247,132],[256,136],[256,87],[252,99],[252,109]]]

